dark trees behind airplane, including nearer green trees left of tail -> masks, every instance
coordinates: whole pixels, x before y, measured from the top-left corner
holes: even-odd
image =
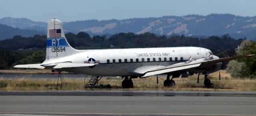
[[[136,35],[134,33],[119,33],[106,37],[105,35],[90,37],[87,33],[67,33],[68,43],[77,49],[106,48],[148,48],[199,46],[212,50],[220,57],[234,56],[235,50],[244,39],[233,39],[228,35],[212,36],[206,39],[175,35],[171,37],[156,36],[153,33]],[[0,69],[10,69],[16,64],[34,64],[45,59],[46,35],[34,37],[14,36],[12,39],[0,41]]]

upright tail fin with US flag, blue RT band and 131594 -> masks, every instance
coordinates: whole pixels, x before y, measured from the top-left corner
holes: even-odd
[[[72,46],[68,44],[64,35],[62,23],[58,19],[51,19],[48,21],[46,43],[46,60],[69,56],[78,52],[78,50],[72,48]]]

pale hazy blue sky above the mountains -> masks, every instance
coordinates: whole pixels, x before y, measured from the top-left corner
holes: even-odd
[[[163,15],[256,15],[256,0],[1,0],[0,18],[26,17],[47,22],[128,19]]]

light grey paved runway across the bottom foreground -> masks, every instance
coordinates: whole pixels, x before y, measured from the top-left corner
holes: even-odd
[[[62,93],[67,95],[72,92],[83,93],[82,91]],[[84,93],[88,92],[91,93],[89,95],[69,96],[63,96],[62,93],[50,96],[49,94],[43,95],[44,92],[41,92],[41,95],[38,96],[29,95],[30,92],[24,92],[23,95],[20,95],[22,93],[19,93],[19,95],[3,95],[4,91],[0,91],[0,115],[256,115],[254,92],[227,92],[226,96],[225,92],[208,91],[144,92],[151,92],[151,96],[116,96],[115,94],[120,91],[116,93],[115,91],[105,91],[106,93],[85,91]],[[106,95],[110,93],[114,93],[114,95]],[[134,91],[133,93],[143,94],[140,91]],[[156,93],[172,93],[174,96],[161,94],[153,96]],[[190,93],[190,95],[182,95],[181,93]],[[207,93],[208,96],[194,95],[198,93],[199,95]],[[230,96],[232,94],[240,95],[241,93],[247,94],[247,97]]]

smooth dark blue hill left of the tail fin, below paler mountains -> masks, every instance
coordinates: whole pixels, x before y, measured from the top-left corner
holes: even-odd
[[[35,34],[45,35],[46,33],[38,32],[36,30],[18,29],[0,24],[0,40],[12,38],[15,35],[21,35],[22,37],[33,37]]]

